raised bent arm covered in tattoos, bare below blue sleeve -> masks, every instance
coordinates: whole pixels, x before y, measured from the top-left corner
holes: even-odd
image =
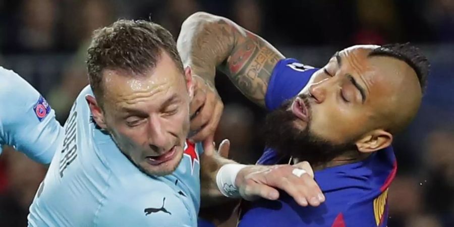
[[[183,64],[212,86],[216,68],[251,101],[264,106],[271,72],[284,56],[233,21],[195,13],[183,22],[177,47]],[[213,86],[214,87],[214,86]]]

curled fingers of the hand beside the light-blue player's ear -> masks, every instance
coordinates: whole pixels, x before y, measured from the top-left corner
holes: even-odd
[[[198,127],[199,124],[203,124],[205,121],[208,122],[201,125],[201,129],[194,134],[191,139],[197,142],[203,140],[209,135],[214,134],[222,116],[223,109],[224,105],[221,101],[216,100],[214,105],[205,103],[199,111],[199,114],[191,121],[191,130],[192,128]]]

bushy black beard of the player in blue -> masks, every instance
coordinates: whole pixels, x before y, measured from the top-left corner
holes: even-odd
[[[304,100],[307,111],[311,112],[310,103],[306,95],[300,95]],[[269,113],[263,130],[263,138],[268,148],[274,149],[280,160],[298,158],[308,161],[311,165],[326,164],[333,158],[348,151],[356,150],[353,141],[343,144],[334,144],[320,138],[310,131],[311,118],[304,130],[297,129],[294,122],[300,121],[291,110],[288,110],[293,101],[286,101],[281,107]],[[309,115],[310,117],[312,115]]]

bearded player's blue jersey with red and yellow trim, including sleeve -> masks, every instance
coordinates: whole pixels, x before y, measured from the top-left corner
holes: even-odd
[[[266,107],[275,109],[296,96],[317,70],[294,59],[281,60],[269,81]],[[278,159],[272,149],[266,149],[257,163],[276,164]],[[299,206],[281,192],[276,201],[244,203],[239,226],[384,227],[388,187],[395,173],[392,147],[374,152],[362,161],[316,171],[315,180],[326,197],[320,206]]]

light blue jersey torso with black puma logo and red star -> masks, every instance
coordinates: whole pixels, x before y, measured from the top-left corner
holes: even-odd
[[[79,94],[28,216],[29,226],[197,226],[202,147],[186,143],[176,171],[150,177],[95,127]]]

